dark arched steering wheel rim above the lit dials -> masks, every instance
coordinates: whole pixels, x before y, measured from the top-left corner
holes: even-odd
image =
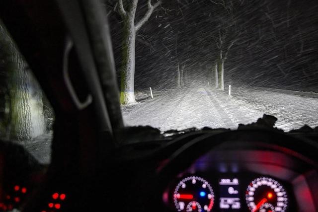
[[[156,186],[150,191],[155,195],[150,198],[147,205],[154,209],[153,211],[170,211],[171,209],[162,204],[162,195],[171,179],[211,150],[246,147],[283,152],[318,170],[318,143],[314,141],[295,138],[280,131],[262,129],[237,130],[216,135],[206,134],[185,143],[169,157],[164,165],[158,168]],[[159,207],[151,207],[155,205]]]

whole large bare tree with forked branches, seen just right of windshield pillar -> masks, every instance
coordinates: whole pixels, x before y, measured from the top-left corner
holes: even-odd
[[[124,40],[122,47],[122,68],[120,82],[120,102],[121,104],[134,103],[135,100],[135,43],[136,33],[148,21],[154,10],[161,4],[158,0],[152,5],[148,0],[148,11],[139,22],[135,23],[138,0],[127,2],[125,9],[123,0],[119,0],[117,10],[124,24]]]

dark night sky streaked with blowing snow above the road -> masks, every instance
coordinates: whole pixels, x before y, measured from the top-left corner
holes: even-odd
[[[116,2],[106,0],[119,75],[123,26]],[[139,0],[135,22],[146,2]],[[207,84],[221,29],[226,45],[236,40],[225,62],[226,86],[318,92],[317,14],[317,0],[163,0],[137,33],[136,89],[176,86],[178,62],[192,81]]]

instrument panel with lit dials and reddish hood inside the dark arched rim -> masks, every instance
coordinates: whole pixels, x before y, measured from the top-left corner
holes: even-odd
[[[168,211],[317,211],[317,171],[304,157],[262,142],[229,146],[208,151],[176,174],[162,194]]]

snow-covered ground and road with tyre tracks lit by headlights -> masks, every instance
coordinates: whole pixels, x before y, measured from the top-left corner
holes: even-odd
[[[231,96],[208,86],[153,92],[154,99],[143,98],[122,107],[127,126],[150,125],[162,131],[190,127],[236,129],[238,124],[255,122],[264,113],[276,116],[276,127],[284,131],[304,124],[318,126],[318,98],[251,87],[234,87]]]

